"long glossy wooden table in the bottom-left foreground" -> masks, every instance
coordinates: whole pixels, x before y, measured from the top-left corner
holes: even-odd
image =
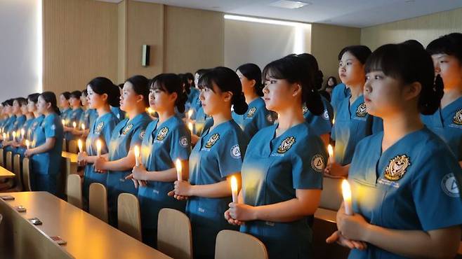
[[[98,218],[46,192],[4,193],[15,200],[0,199],[0,258],[169,258]],[[19,213],[14,206],[27,212]],[[32,225],[27,218],[39,218]],[[14,235],[13,235],[14,233]],[[48,236],[58,235],[60,246]]]

